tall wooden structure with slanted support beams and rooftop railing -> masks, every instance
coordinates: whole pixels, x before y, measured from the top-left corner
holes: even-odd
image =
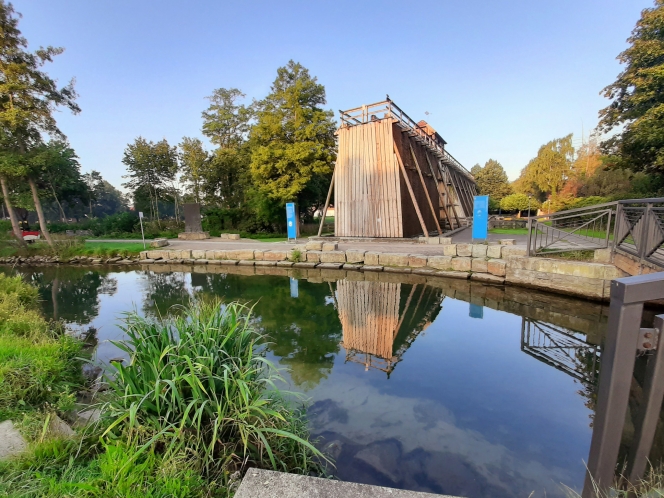
[[[391,100],[340,111],[334,190],[335,235],[404,238],[469,224],[472,175],[425,121]],[[322,225],[321,225],[322,226]]]

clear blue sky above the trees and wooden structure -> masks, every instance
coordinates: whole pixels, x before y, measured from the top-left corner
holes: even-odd
[[[65,47],[47,71],[77,80],[61,129],[81,158],[122,183],[138,135],[200,136],[205,97],[262,98],[301,62],[335,111],[385,94],[426,120],[470,169],[489,158],[510,179],[540,145],[581,141],[620,72],[616,56],[651,0],[255,1],[16,0],[31,48]],[[425,116],[425,112],[429,112]]]

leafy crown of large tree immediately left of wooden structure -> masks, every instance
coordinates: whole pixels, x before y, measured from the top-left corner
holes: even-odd
[[[313,216],[325,200],[336,159],[332,111],[325,88],[301,64],[277,70],[251,129],[251,175],[258,192],[283,205],[295,201]]]

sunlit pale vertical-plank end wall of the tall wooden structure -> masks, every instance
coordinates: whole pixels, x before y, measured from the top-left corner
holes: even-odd
[[[335,166],[335,234],[404,237],[392,120],[342,127]]]

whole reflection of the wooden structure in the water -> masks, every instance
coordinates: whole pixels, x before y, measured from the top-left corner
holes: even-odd
[[[400,283],[337,282],[346,361],[363,364],[365,370],[392,373],[415,338],[431,324],[443,298],[438,289],[425,285],[405,291],[408,297],[402,300]]]

